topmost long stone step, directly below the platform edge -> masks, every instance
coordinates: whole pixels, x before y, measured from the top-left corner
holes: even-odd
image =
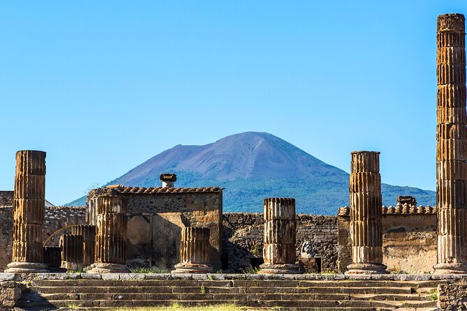
[[[436,287],[437,281],[371,280],[33,280],[34,286],[108,287],[108,286],[214,286],[214,287]]]

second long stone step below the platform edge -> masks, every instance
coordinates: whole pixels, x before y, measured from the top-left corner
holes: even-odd
[[[206,292],[212,294],[413,294],[429,293],[434,287],[412,289],[410,287],[212,287],[204,286]],[[194,287],[30,287],[31,290],[44,294],[87,294],[87,293],[198,293],[201,286]]]

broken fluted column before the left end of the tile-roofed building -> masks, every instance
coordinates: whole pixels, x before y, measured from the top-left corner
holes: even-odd
[[[96,247],[90,273],[128,272],[126,267],[126,197],[108,190],[96,202]]]

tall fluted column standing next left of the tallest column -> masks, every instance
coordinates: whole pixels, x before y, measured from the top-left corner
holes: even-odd
[[[380,153],[354,151],[350,165],[352,264],[346,274],[387,273],[383,265]]]

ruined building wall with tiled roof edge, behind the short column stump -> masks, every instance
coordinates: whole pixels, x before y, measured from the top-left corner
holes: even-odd
[[[130,266],[171,269],[179,261],[182,227],[209,228],[210,262],[221,268],[222,189],[112,186],[91,190],[87,220],[96,224],[96,195],[109,189],[128,199],[127,254]]]

